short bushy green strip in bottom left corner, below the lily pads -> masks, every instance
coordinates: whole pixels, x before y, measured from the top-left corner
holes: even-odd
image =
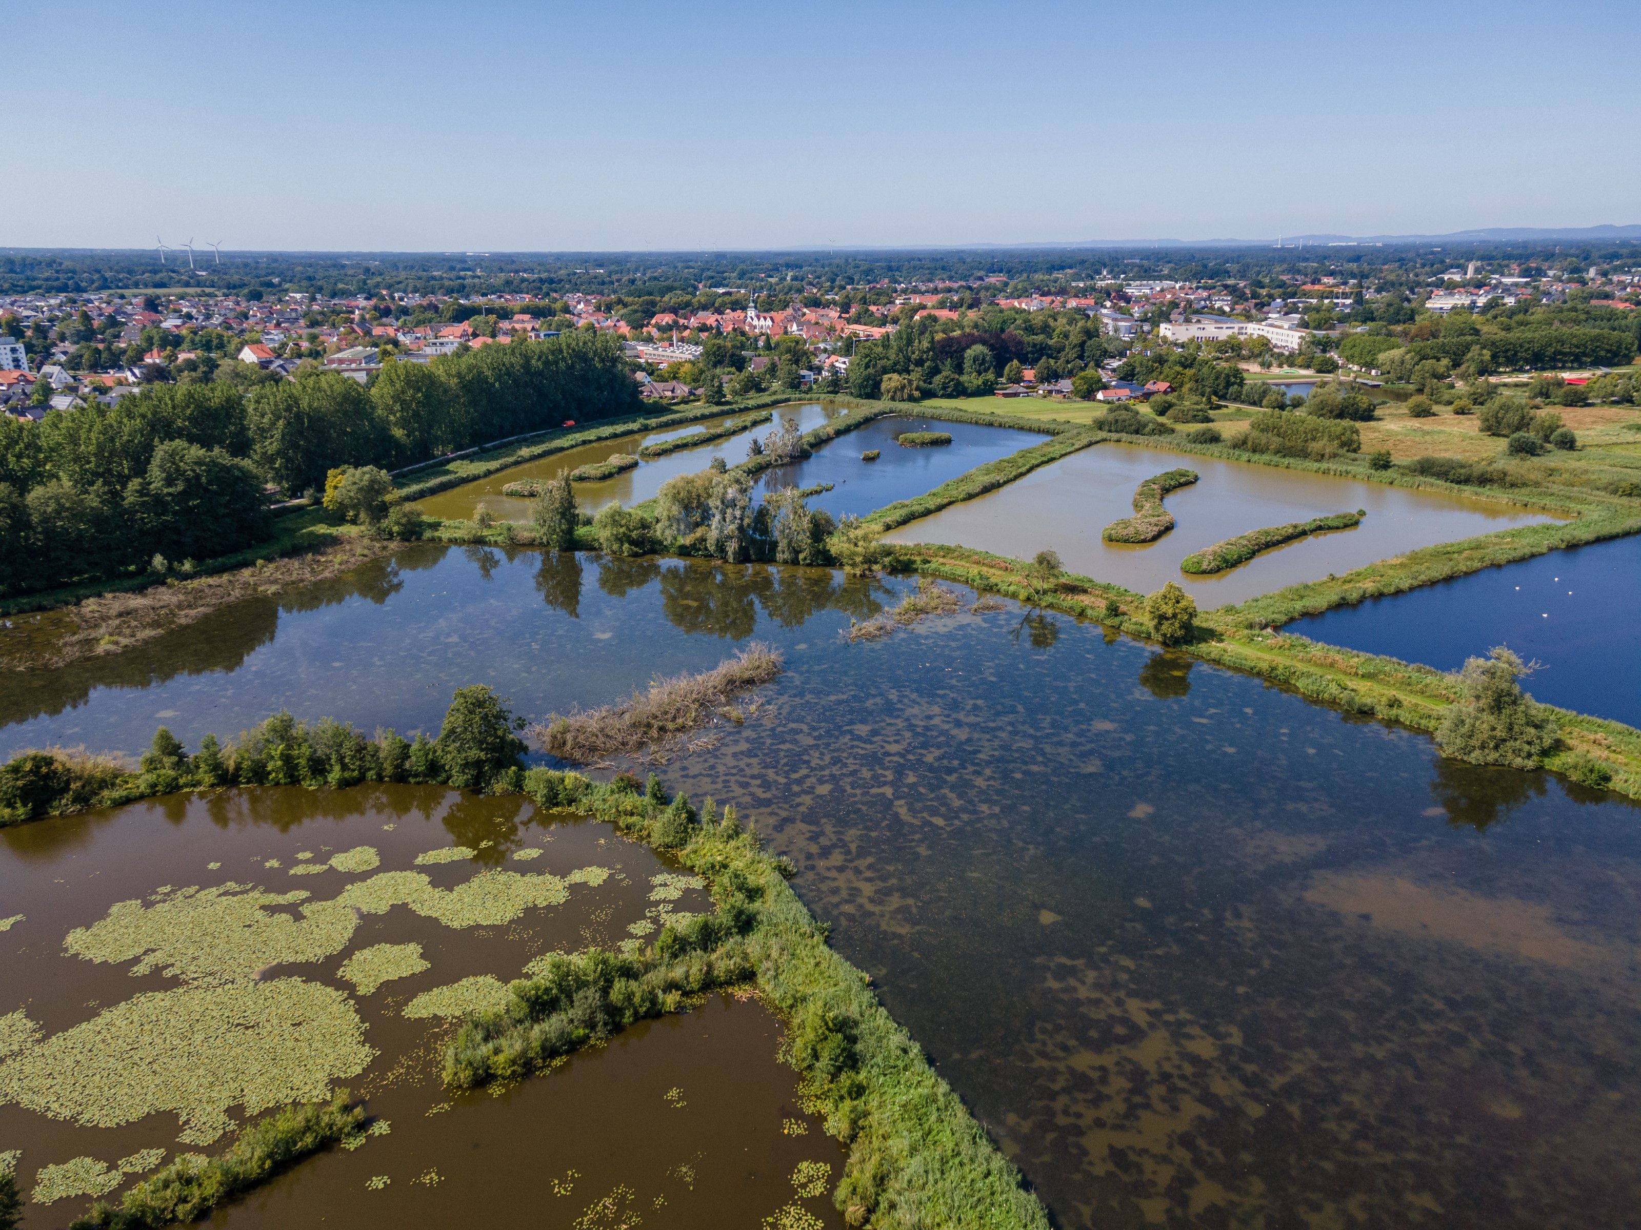
[[[354,1135],[363,1120],[363,1107],[350,1105],[346,1091],[328,1102],[286,1107],[246,1127],[218,1156],[184,1153],[135,1184],[118,1205],[94,1204],[71,1230],[158,1230],[197,1222],[292,1163]]]

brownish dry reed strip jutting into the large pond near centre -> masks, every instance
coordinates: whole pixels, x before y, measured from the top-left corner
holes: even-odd
[[[779,672],[779,651],[753,641],[711,671],[656,679],[648,692],[633,692],[617,705],[553,715],[535,733],[546,751],[574,764],[594,764],[645,748],[656,753],[714,718],[735,720],[730,697]]]

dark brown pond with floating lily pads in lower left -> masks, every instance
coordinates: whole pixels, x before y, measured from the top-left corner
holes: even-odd
[[[0,935],[0,1020],[21,1009],[44,1040],[3,1035],[0,1151],[23,1150],[25,1196],[72,1158],[112,1169],[144,1150],[213,1151],[248,1097],[299,1096],[269,1084],[271,1061],[318,1082],[300,1096],[350,1087],[389,1130],[304,1163],[213,1225],[602,1227],[638,1209],[645,1225],[757,1225],[794,1200],[799,1163],[834,1181],[842,1166],[757,1000],[640,1023],[505,1091],[450,1096],[440,1081],[445,1014],[476,1002],[443,989],[494,991],[543,953],[614,946],[668,912],[711,909],[674,872],[609,825],[437,787],[230,790],[3,830],[0,900],[23,917]],[[310,894],[300,905],[297,889]],[[384,895],[399,904],[373,904]],[[379,982],[364,973],[373,956]],[[120,1058],[138,1009],[139,1077]],[[213,1028],[220,1017],[233,1027]],[[117,1122],[84,1127],[80,1114]],[[369,1186],[376,1176],[387,1184]],[[85,1202],[31,1204],[23,1223],[61,1225]],[[829,1199],[802,1205],[840,1225]]]

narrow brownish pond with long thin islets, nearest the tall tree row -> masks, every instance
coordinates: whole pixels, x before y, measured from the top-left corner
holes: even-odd
[[[840,407],[824,405],[820,402],[783,405],[775,410],[773,420],[750,426],[738,435],[725,436],[724,440],[717,440],[711,444],[668,453],[655,461],[640,461],[637,469],[617,474],[614,479],[606,479],[604,482],[578,482],[574,484],[576,503],[584,513],[596,513],[606,503],[612,503],[614,500],[620,500],[624,507],[630,508],[635,503],[651,499],[668,479],[706,469],[712,464],[712,458],[724,458],[724,461],[730,466],[740,464],[747,459],[747,446],[753,438],[763,440],[770,435],[770,431],[778,430],[783,423],[798,423],[801,431],[812,431],[829,418],[837,418],[840,413],[843,413]],[[417,500],[415,507],[428,517],[458,520],[473,517],[473,510],[478,508],[479,503],[484,503],[504,522],[527,522],[530,520],[530,508],[533,502],[512,495],[502,495],[502,487],[509,482],[517,482],[519,479],[553,479],[558,477],[558,471],[561,469],[576,469],[576,466],[589,466],[607,461],[612,453],[629,453],[637,456],[638,449],[645,444],[653,444],[661,440],[676,440],[678,436],[689,436],[702,428],[717,428],[730,420],[742,420],[747,417],[748,412],[743,410],[720,418],[704,418],[699,423],[668,428],[666,431],[640,431],[617,440],[606,440],[597,444],[584,444],[565,453],[555,453],[548,458],[540,458],[538,461],[527,461],[522,466],[514,466],[501,471],[499,474],[491,474],[487,479],[474,479],[473,482],[464,482],[459,487],[451,487],[450,490],[438,492],[437,495],[428,495],[423,500]]]

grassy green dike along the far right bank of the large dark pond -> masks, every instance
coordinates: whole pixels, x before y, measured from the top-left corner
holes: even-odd
[[[1070,572],[1045,585],[1034,564],[963,546],[919,543],[899,551],[904,566],[921,576],[1060,610],[1132,636],[1168,640],[1152,626],[1145,613],[1147,599],[1121,585]],[[1267,679],[1308,700],[1428,735],[1436,735],[1447,712],[1467,699],[1457,674],[1342,649],[1264,625],[1244,626],[1237,607],[1195,612],[1186,635],[1170,643],[1183,653]],[[1641,799],[1641,730],[1552,705],[1539,708],[1551,715],[1557,736],[1556,746],[1539,761],[1543,768],[1580,786]]]

